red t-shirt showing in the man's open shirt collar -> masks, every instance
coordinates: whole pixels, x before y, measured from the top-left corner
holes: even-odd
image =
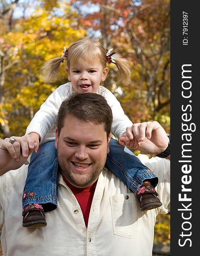
[[[84,218],[86,227],[88,227],[88,219],[89,219],[89,213],[91,208],[91,202],[94,196],[95,188],[97,186],[97,181],[95,181],[91,186],[82,189],[82,188],[77,188],[71,185],[71,183],[69,183],[69,181],[66,180],[65,177],[63,177],[63,180],[75,195],[80,205],[80,208],[83,212],[83,218]]]

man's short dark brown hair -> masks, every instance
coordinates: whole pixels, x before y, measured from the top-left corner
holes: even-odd
[[[66,116],[74,116],[84,122],[97,125],[103,124],[107,138],[111,133],[113,119],[111,108],[106,99],[97,93],[73,93],[62,102],[57,115],[58,136]]]

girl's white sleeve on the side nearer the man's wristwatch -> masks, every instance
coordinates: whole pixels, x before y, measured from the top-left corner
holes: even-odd
[[[109,106],[111,107],[113,115],[111,130],[119,139],[120,136],[126,132],[126,128],[128,126],[132,126],[133,123],[131,122],[129,117],[125,115],[123,108],[120,105],[120,102],[116,99],[114,94],[112,94],[109,90],[106,90],[106,93],[107,95],[105,98]]]

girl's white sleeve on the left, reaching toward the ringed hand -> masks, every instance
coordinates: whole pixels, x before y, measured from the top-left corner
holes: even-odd
[[[40,135],[40,143],[46,137],[48,131],[53,127],[57,119],[57,112],[63,102],[65,96],[65,84],[60,85],[40,106],[39,111],[34,115],[29,126],[26,129],[26,134],[36,132]]]

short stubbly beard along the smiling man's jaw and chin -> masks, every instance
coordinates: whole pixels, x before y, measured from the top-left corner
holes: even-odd
[[[70,172],[70,169],[68,166],[65,164],[65,160],[60,157],[59,154],[59,147],[57,147],[57,157],[58,157],[58,163],[60,166],[60,171],[64,177],[71,183],[73,186],[77,186],[79,188],[86,188],[93,184],[99,177],[100,173],[103,170],[103,167],[105,166],[106,163],[106,157],[107,154],[103,157],[102,163],[96,166],[95,170],[93,170],[92,173],[90,173],[88,176],[83,175],[81,178],[80,177],[77,179],[77,177],[74,177],[74,175]]]

